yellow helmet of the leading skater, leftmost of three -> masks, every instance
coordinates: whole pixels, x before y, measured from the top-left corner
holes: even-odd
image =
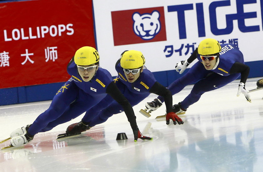
[[[76,65],[92,65],[99,62],[100,56],[93,47],[81,47],[76,51],[74,61]]]

